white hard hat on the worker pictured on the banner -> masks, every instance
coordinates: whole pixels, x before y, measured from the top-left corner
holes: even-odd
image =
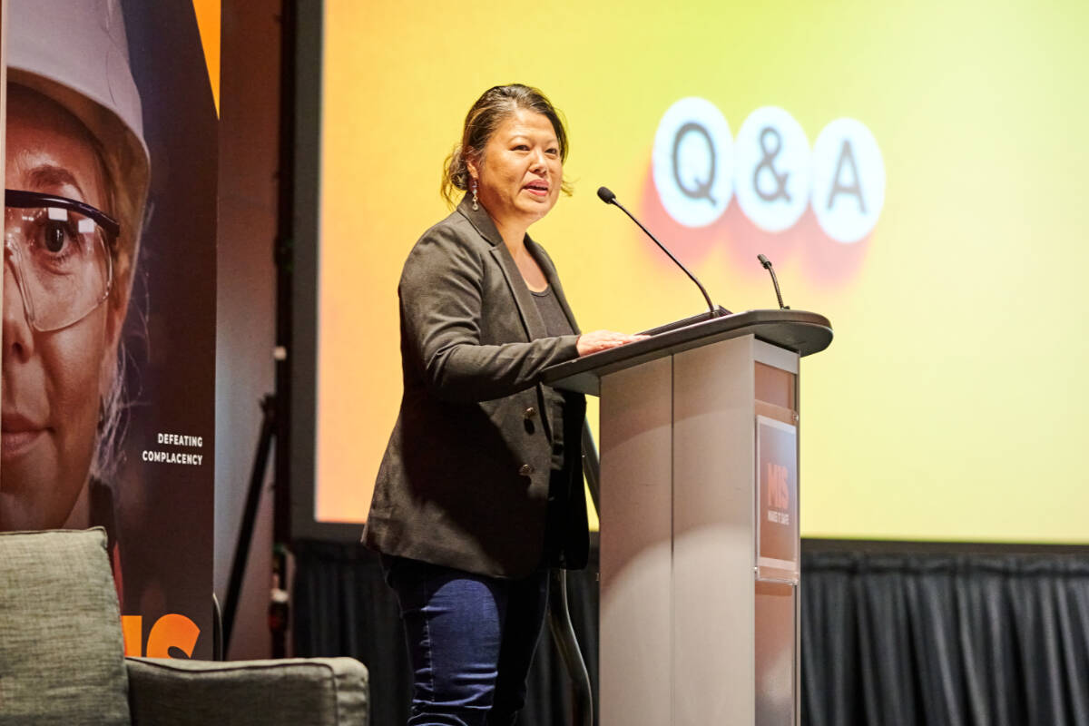
[[[10,0],[8,81],[52,99],[98,139],[123,248],[135,259],[149,160],[119,0]]]

